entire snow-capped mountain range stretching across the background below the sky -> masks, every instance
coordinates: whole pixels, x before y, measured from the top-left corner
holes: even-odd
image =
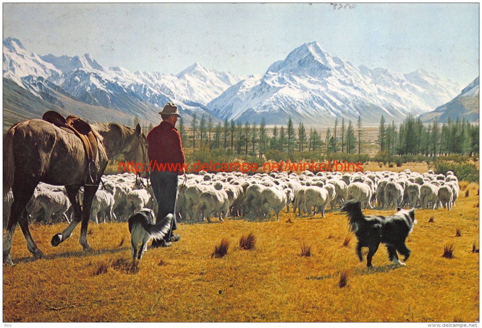
[[[28,52],[18,39],[3,40],[4,126],[39,117],[42,106],[89,120],[132,124],[137,117],[148,125],[159,122],[157,113],[167,102],[178,105],[186,124],[194,115],[257,124],[262,118],[267,124],[286,124],[291,117],[321,125],[360,115],[366,125],[378,123],[381,115],[399,122],[428,113],[450,102],[460,89],[457,82],[422,69],[395,74],[355,67],[317,42],[296,48],[263,75],[243,76],[199,64],[177,75],[130,72],[103,67],[89,54],[42,56]],[[25,109],[16,117],[19,106]]]

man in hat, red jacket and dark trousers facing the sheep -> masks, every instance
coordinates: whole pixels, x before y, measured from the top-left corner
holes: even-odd
[[[168,247],[181,236],[173,234],[177,229],[175,207],[178,176],[184,174],[184,152],[181,136],[175,128],[177,118],[180,118],[177,106],[167,103],[161,112],[162,122],[152,128],[147,134],[147,156],[152,161],[150,180],[152,190],[158,203],[156,220],[162,220],[167,214],[174,215],[171,229],[162,240],[153,240],[153,247]],[[158,170],[156,164],[164,164],[165,170]]]

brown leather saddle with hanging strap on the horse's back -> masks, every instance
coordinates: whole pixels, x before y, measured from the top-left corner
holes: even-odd
[[[82,120],[81,118],[78,118],[75,115],[69,115],[67,116],[67,118],[64,118],[60,113],[57,113],[54,110],[49,110],[48,112],[45,112],[42,116],[42,119],[44,121],[54,124],[55,126],[63,130],[66,130],[67,132],[74,133],[80,138],[89,163],[85,177],[85,184],[96,184],[95,159],[97,157],[98,150],[97,137],[92,131],[89,123]]]

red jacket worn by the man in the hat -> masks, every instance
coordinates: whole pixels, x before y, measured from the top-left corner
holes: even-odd
[[[169,122],[162,121],[158,126],[147,133],[147,156],[149,161],[157,163],[184,164],[185,157],[182,151],[181,135]]]

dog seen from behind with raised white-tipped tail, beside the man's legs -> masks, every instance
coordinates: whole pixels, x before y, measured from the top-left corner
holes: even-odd
[[[132,259],[135,260],[136,257],[137,260],[141,259],[151,238],[162,239],[169,232],[172,220],[173,214],[167,214],[164,219],[156,223],[154,212],[149,209],[142,209],[132,214],[127,220],[131,233]],[[142,244],[137,252],[140,242]]]

